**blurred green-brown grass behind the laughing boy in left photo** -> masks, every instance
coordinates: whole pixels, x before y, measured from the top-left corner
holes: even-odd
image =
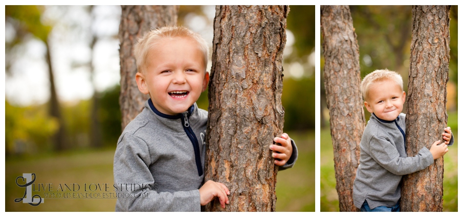
[[[315,211],[315,133],[288,134],[296,141],[299,157],[293,168],[278,172],[276,210]],[[77,192],[80,193],[92,192],[88,188],[92,183],[112,186],[113,158],[114,149],[6,157],[5,211],[114,211],[115,199],[47,199],[43,197],[43,190],[37,191],[37,186],[34,194],[39,194],[45,199],[43,204],[30,206],[14,202],[14,199],[21,198],[24,194],[24,188],[18,187],[15,182],[16,177],[22,176],[23,173],[36,173],[37,179],[34,184],[52,183],[54,192],[59,192],[59,184],[64,186],[77,183],[80,186]],[[24,184],[21,180],[18,183]],[[85,184],[87,191],[83,189]]]

